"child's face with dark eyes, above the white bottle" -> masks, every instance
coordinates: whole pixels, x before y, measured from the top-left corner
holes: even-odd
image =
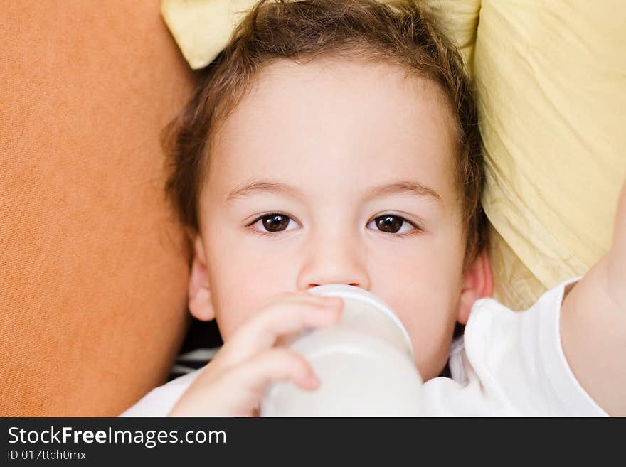
[[[398,313],[425,380],[438,375],[469,312],[444,102],[392,65],[262,70],[213,140],[192,313],[215,316],[228,340],[272,295],[359,286]]]

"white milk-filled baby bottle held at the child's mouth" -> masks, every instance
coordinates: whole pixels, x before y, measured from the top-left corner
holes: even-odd
[[[422,378],[413,347],[391,308],[359,287],[327,284],[311,294],[344,300],[341,321],[287,341],[311,364],[321,384],[301,390],[292,382],[270,385],[262,417],[416,417]]]

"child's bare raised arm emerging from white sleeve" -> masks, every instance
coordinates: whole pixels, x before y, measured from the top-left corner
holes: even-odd
[[[585,391],[610,415],[626,415],[626,184],[612,247],[573,286],[561,308],[561,341]]]

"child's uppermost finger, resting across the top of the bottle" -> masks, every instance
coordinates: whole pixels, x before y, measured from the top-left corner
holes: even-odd
[[[313,299],[311,299],[313,298]],[[237,365],[272,348],[277,339],[306,328],[339,321],[343,300],[336,297],[282,297],[261,308],[238,328],[221,349],[221,365]]]

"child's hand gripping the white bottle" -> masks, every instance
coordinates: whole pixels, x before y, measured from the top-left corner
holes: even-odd
[[[275,344],[281,336],[336,323],[342,308],[339,298],[306,292],[272,297],[233,333],[169,416],[258,415],[265,388],[279,380],[314,390],[319,380],[307,360]]]

